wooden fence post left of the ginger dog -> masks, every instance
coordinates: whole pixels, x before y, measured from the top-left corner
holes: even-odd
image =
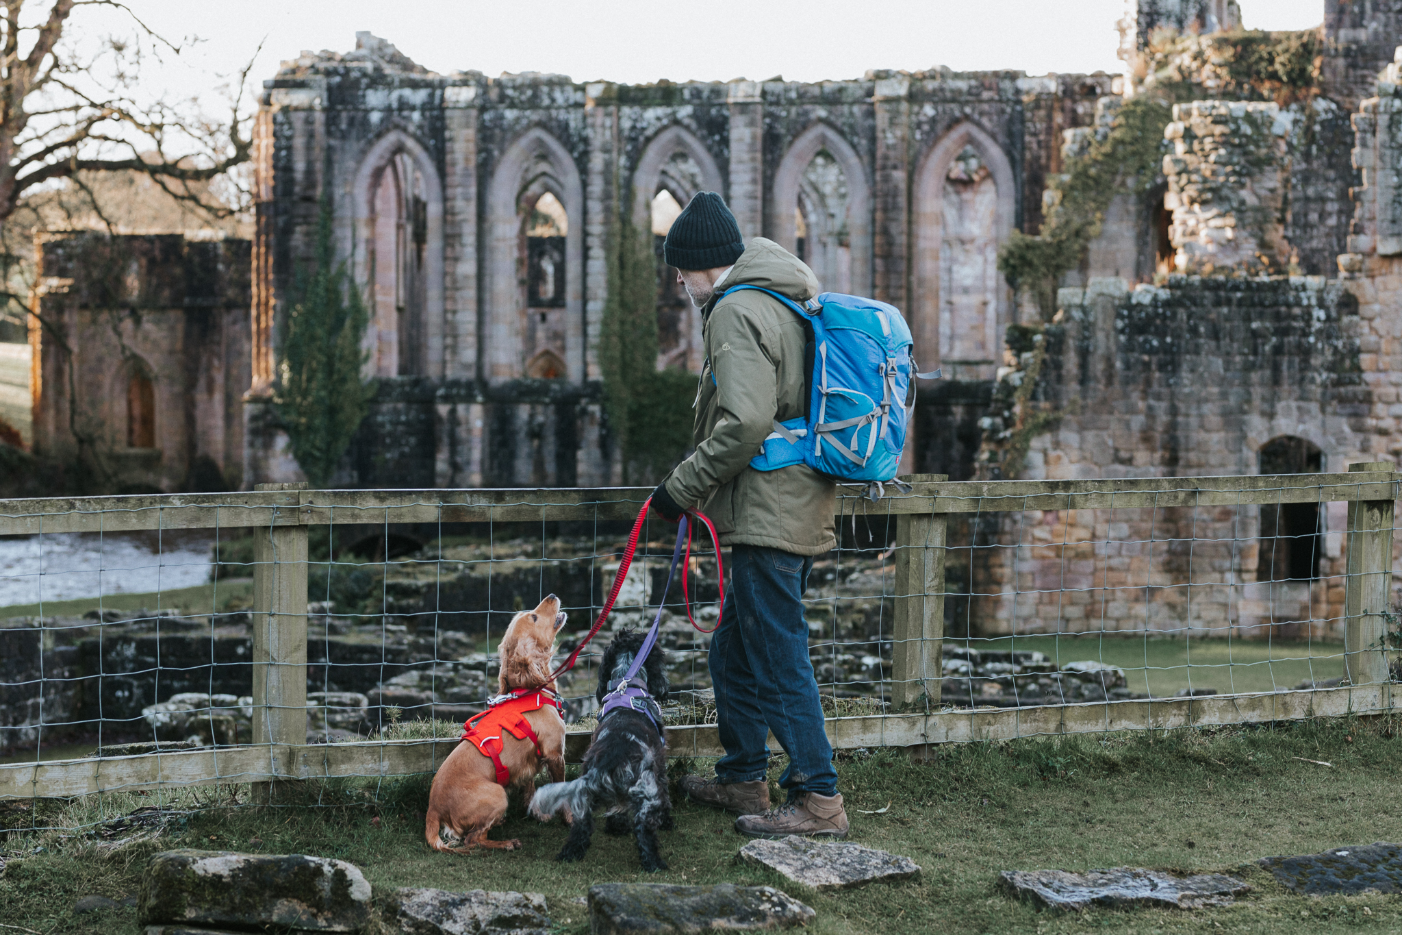
[[[283,517],[300,521],[306,484],[258,484],[255,491],[289,491]],[[300,524],[254,530],[254,744],[269,747],[307,743],[307,527]],[[272,782],[252,784],[254,802],[272,800]]]

